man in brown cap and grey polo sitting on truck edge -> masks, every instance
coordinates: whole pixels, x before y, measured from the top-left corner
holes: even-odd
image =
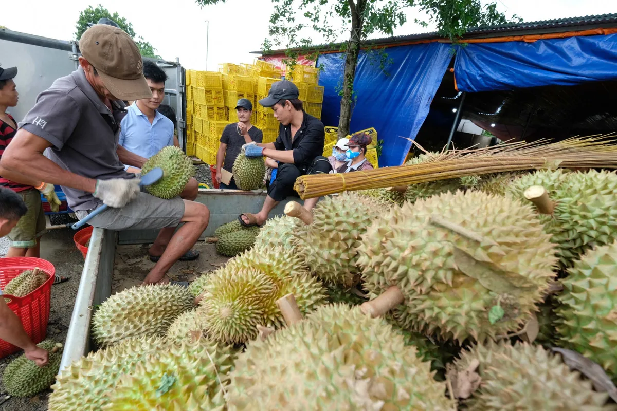
[[[62,185],[80,219],[108,205],[89,221],[94,227],[162,229],[155,244],[164,244],[164,251],[144,282],[169,282],[168,269],[207,227],[209,210],[180,197],[162,200],[140,192],[139,176],[124,169],[125,164],[141,168],[146,159],[118,145],[122,108],[117,100],[151,97],[130,36],[97,24],[83,33],[79,46],[80,67],[39,94],[2,155],[0,174],[17,182],[35,178]],[[185,224],[174,234],[180,222]]]

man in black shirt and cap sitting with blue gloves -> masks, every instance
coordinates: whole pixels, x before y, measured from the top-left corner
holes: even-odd
[[[325,139],[323,123],[303,110],[298,96],[296,84],[283,80],[272,84],[268,97],[259,100],[263,107],[272,107],[280,123],[278,137],[273,143],[252,142],[242,147],[246,157],[270,158],[278,162],[278,168],[275,180],[268,185],[268,197],[263,202],[262,210],[257,214],[240,214],[239,220],[245,226],[261,226],[279,201],[289,195],[299,197],[294,190],[297,177],[327,174],[331,170],[328,159],[321,155]],[[304,208],[311,210],[317,200],[310,198],[304,201]]]

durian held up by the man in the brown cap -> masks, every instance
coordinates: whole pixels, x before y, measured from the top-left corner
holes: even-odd
[[[141,168],[141,174],[146,174],[157,167],[163,169],[163,178],[152,185],[147,185],[146,191],[159,198],[169,199],[180,195],[186,183],[195,174],[193,161],[173,145],[163,147],[148,158]]]

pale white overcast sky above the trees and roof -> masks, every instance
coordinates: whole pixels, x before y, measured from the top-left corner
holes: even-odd
[[[251,63],[256,55],[249,53],[261,49],[273,11],[271,0],[227,0],[203,8],[191,0],[159,2],[163,7],[144,0],[20,0],[3,1],[0,25],[32,35],[70,40],[74,38],[80,11],[97,4],[133,23],[137,35],[152,43],[161,57],[172,61],[177,57],[185,68],[193,70],[217,70],[218,63]],[[497,6],[508,17],[516,14],[526,22],[617,13],[615,0],[497,0]],[[408,22],[397,28],[394,35],[434,30],[432,25],[424,28],[413,23],[414,18],[426,16],[410,10]],[[321,43],[318,36],[314,40],[313,43]]]

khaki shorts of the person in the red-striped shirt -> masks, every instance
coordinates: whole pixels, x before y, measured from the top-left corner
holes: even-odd
[[[28,207],[27,213],[19,219],[17,226],[7,235],[9,246],[14,248],[33,248],[36,239],[47,232],[45,212],[41,202],[41,193],[37,189],[17,192]]]

